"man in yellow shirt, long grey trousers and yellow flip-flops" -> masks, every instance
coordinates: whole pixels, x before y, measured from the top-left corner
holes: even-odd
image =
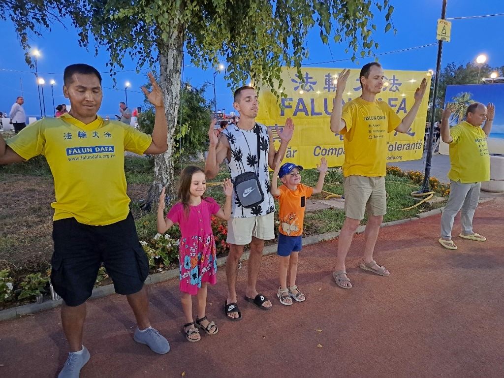
[[[450,144],[450,197],[441,216],[439,243],[447,249],[457,249],[452,240],[455,216],[461,212],[460,237],[485,241],[473,231],[472,220],[478,206],[481,181],[490,179],[490,156],[486,140],[492,129],[495,106],[474,102],[467,107],[466,119],[450,129],[449,119],[455,104],[448,104],[441,120],[441,138]],[[481,125],[484,123],[483,128]]]

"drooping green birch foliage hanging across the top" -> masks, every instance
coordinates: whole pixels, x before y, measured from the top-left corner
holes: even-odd
[[[123,67],[124,51],[138,62],[138,68],[155,67],[159,54],[177,47],[181,39],[195,66],[217,67],[222,56],[227,61],[226,79],[233,85],[245,83],[251,77],[270,87],[280,79],[280,67],[300,68],[301,61],[308,56],[305,39],[311,28],[320,30],[324,43],[329,38],[346,42],[346,53],[355,60],[359,51],[372,55],[376,48],[372,39],[376,29],[373,17],[384,14],[385,30],[389,31],[393,28],[394,11],[388,0],[308,3],[11,0],[7,3],[12,4],[3,4],[1,9],[9,12],[25,49],[29,47],[26,31],[41,35],[39,25],[49,28],[50,22],[69,17],[80,30],[79,42],[83,46],[93,41],[107,47],[111,72],[116,65]],[[12,9],[13,4],[17,8]],[[6,16],[2,18],[5,20]]]

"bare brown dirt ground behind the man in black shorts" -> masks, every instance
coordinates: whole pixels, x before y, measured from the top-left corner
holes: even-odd
[[[49,269],[53,251],[52,177],[4,174],[0,175],[0,188],[0,269],[9,267],[18,274]],[[146,184],[131,184],[128,195],[138,202],[148,189]],[[134,211],[135,217],[140,214],[140,210]]]

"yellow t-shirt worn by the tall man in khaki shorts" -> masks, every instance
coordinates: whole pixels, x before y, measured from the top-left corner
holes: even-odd
[[[345,146],[343,175],[380,177],[387,174],[387,134],[401,118],[386,102],[358,97],[343,106],[346,127],[340,132]]]

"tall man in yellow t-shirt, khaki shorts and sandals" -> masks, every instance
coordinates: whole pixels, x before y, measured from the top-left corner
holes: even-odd
[[[386,102],[376,100],[376,95],[382,91],[384,79],[382,66],[377,62],[362,67],[359,75],[362,94],[342,107],[349,75],[349,70],[343,70],[338,77],[331,113],[331,131],[344,136],[345,146],[343,176],[346,218],[338,238],[338,255],[333,272],[336,284],[344,289],[352,287],[346,275],[345,259],[365,211],[368,221],[364,231],[365,247],[360,268],[381,276],[390,274],[385,267],[373,260],[374,244],[383,216],[387,213],[387,134],[393,131],[408,132],[427,86],[423,79],[415,92],[413,106],[401,120]]]

